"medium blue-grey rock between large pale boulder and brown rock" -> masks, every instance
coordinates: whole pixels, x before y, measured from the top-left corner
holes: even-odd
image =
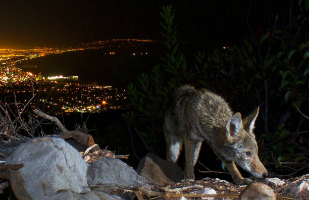
[[[103,158],[89,165],[87,181],[89,185],[112,185],[122,187],[136,187],[140,177],[135,170],[116,158]],[[109,188],[104,190],[109,192]],[[135,194],[119,190],[117,195],[126,199],[133,199]]]

